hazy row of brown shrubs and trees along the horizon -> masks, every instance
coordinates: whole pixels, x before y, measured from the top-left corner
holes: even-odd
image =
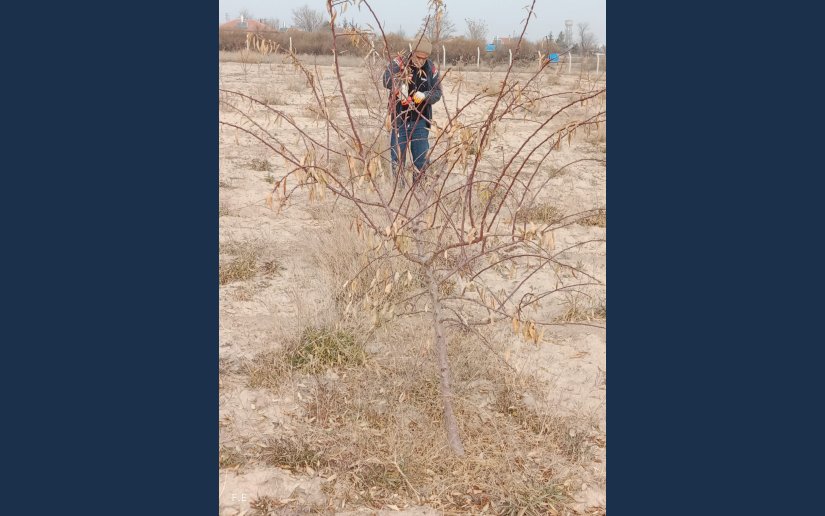
[[[240,15],[244,19],[255,19],[254,15],[247,9],[243,9]],[[228,17],[228,16],[227,16]],[[493,38],[492,43],[496,44],[496,49],[492,52],[484,52],[484,47],[488,42],[490,31],[484,20],[467,18],[465,31],[458,34],[455,23],[450,19],[446,8],[439,9],[432,16],[430,23],[425,23],[427,17],[422,18],[421,25],[427,27],[425,34],[433,42],[433,54],[440,55],[440,46],[447,47],[447,61],[450,63],[475,62],[477,49],[482,49],[485,61],[502,62],[509,59],[508,50],[515,50],[518,38],[506,38],[504,40]],[[292,38],[293,49],[303,54],[329,54],[332,48],[332,39],[329,31],[324,29],[329,24],[329,18],[321,11],[309,6],[299,7],[292,11],[292,25],[285,28],[285,23],[277,18],[261,18],[257,21],[271,27],[271,30],[261,30],[262,36],[275,41],[284,48],[289,46],[289,39]],[[336,27],[340,31],[352,31],[353,33],[371,32],[369,27],[363,27],[352,19],[342,17],[336,21]],[[221,30],[219,36],[220,50],[241,50],[246,48],[246,30],[228,29]],[[386,32],[389,53],[405,50],[410,40],[403,28],[396,32]],[[381,35],[375,37],[376,50],[381,53],[383,42]],[[521,48],[514,59],[533,59],[538,52],[543,55],[553,52],[564,52],[570,49],[574,55],[592,55],[595,52],[605,52],[606,46],[599,45],[598,39],[589,30],[588,23],[579,23],[575,32],[568,37],[564,30],[560,30],[555,36],[552,32],[538,40],[525,39],[521,43]],[[338,51],[341,54],[366,56],[370,52],[370,47],[363,44],[363,38],[353,38],[348,44],[339,45]]]

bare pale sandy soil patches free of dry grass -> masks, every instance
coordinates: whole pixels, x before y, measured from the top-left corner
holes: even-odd
[[[332,94],[336,83],[331,67],[323,66],[319,70],[324,88]],[[350,82],[353,84],[348,92],[353,92],[355,99],[359,96],[364,99],[353,102],[353,112],[356,117],[361,117],[366,127],[371,123],[366,109],[370,99],[381,99],[383,102],[385,93],[379,90],[362,92],[360,86],[355,86],[360,84],[365,73],[370,73],[370,70],[364,67],[344,69],[345,87]],[[444,117],[442,110],[445,108],[451,112],[455,110],[457,96],[466,99],[473,91],[495,86],[503,77],[502,72],[472,69],[460,73],[454,70],[452,73],[445,79],[445,102],[436,106],[436,118]],[[564,75],[549,77],[548,74],[542,87],[548,91],[570,91],[576,88],[578,79]],[[461,82],[460,89],[458,82]],[[266,100],[293,116],[297,123],[310,127],[319,138],[325,135],[324,127],[314,122],[312,112],[307,109],[313,102],[301,77],[289,65],[222,62],[220,87]],[[565,97],[559,97],[542,109],[549,112],[564,102]],[[375,106],[376,109],[381,107],[381,104]],[[267,116],[260,107],[247,105],[246,108],[253,118],[264,120]],[[476,114],[481,114],[480,110]],[[221,120],[240,119],[224,107],[220,110],[220,117]],[[297,138],[290,136],[289,128],[281,127],[279,136],[297,144]],[[503,151],[515,149],[532,129],[533,125],[526,121],[508,121],[492,146]],[[388,139],[377,126],[374,134]],[[294,202],[280,212],[271,210],[265,205],[265,198],[271,191],[273,179],[283,174],[279,168],[282,165],[274,153],[248,135],[225,128],[221,129],[219,144],[221,243],[253,242],[260,249],[257,257],[260,263],[280,264],[277,270],[259,270],[251,279],[220,286],[219,356],[222,363],[238,364],[252,359],[261,351],[277,347],[313,314],[328,308],[331,303],[329,288],[314,270],[307,249],[309,242],[319,238],[333,224],[336,215],[330,209],[329,202],[319,205]],[[604,159],[604,139],[598,135],[582,134],[574,138],[569,147],[565,146],[562,152],[551,155],[542,166],[559,168],[577,159],[593,157]],[[565,213],[605,207],[605,181],[604,166],[592,162],[574,164],[549,180],[542,191],[542,199],[552,202]],[[557,232],[556,244],[561,247],[583,239],[604,238],[605,231],[602,227],[573,224]],[[577,252],[576,259],[586,263],[600,280],[606,281],[604,245]],[[537,277],[535,281],[549,281],[549,276]],[[561,309],[560,303],[550,303],[545,307],[550,315]],[[598,324],[603,326],[604,321]],[[601,435],[601,446],[596,448],[589,463],[580,465],[582,478],[589,481],[578,487],[575,507],[581,513],[586,513],[590,507],[605,507],[605,330],[589,326],[553,326],[539,346],[528,345],[518,339],[506,325],[492,328],[490,332],[491,338],[507,350],[505,356],[513,367],[540,377],[550,386],[548,398],[557,403],[559,410],[593,416]],[[378,348],[381,345],[375,344]],[[299,397],[300,392],[251,388],[237,370],[228,368],[221,378],[221,446],[231,448],[233,443],[240,441],[264,442],[268,438],[295,431],[299,428],[298,419],[302,414]],[[250,503],[261,496],[285,500],[280,512],[284,514],[289,514],[292,506],[326,506],[327,512],[336,514],[443,513],[426,504],[382,508],[347,506],[342,509],[333,505],[328,490],[324,489],[328,480],[314,471],[297,473],[261,464],[244,464],[221,468],[219,481],[221,515],[253,514],[255,512]]]

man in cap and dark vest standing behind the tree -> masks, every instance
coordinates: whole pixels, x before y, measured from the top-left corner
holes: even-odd
[[[432,105],[441,100],[441,78],[438,67],[430,61],[432,44],[426,38],[415,38],[412,53],[399,54],[384,71],[384,87],[390,90],[390,155],[393,174],[403,166],[409,143],[415,164],[413,183],[419,181],[427,168],[427,153]],[[400,177],[402,184],[404,176]]]

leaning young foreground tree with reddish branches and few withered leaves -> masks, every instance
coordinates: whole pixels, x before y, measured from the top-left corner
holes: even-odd
[[[478,345],[491,353],[495,351],[482,330],[494,324],[512,327],[524,340],[538,344],[546,328],[569,324],[539,311],[542,304],[571,292],[604,288],[592,271],[570,256],[575,250],[603,245],[604,238],[565,240],[557,248],[554,237],[562,228],[606,214],[604,207],[541,218],[530,215],[530,209],[553,177],[547,175],[548,158],[570,145],[577,133],[599,130],[606,123],[606,89],[597,86],[551,95],[554,103],[550,104],[539,84],[543,66],[522,79],[513,77],[511,64],[500,85],[461,106],[456,103],[455,112],[441,103],[446,120],[434,132],[426,174],[406,188],[401,177],[409,172],[402,168],[397,176],[390,175],[386,156],[384,129],[386,120],[393,118],[387,115],[394,111],[394,100],[370,111],[369,122],[356,121],[350,109],[353,93],[344,87],[337,51],[338,40],[350,36],[337,32],[334,3],[327,0],[338,84],[335,109],[328,106],[332,97],[326,96],[317,71],[288,55],[304,76],[316,112],[327,127],[326,141],[312,129],[314,123],[302,125],[278,106],[238,91],[221,89],[221,102],[223,111],[240,114],[243,122],[220,123],[257,139],[283,160],[284,173],[267,198],[271,208],[287,207],[298,191],[308,192],[309,202],[331,196],[351,208],[353,237],[368,243],[371,251],[363,256],[361,272],[337,293],[341,304],[346,304],[342,312],[376,326],[398,317],[418,318],[430,325],[447,442],[461,456],[464,447],[448,354],[451,332],[476,336]],[[361,3],[375,16],[367,1]],[[434,3],[441,7],[442,2]],[[535,0],[530,14],[534,6]],[[528,15],[516,51],[529,20]],[[376,23],[386,44],[377,17]],[[393,80],[405,80],[407,73],[402,68]],[[440,80],[447,74],[449,70]],[[380,84],[373,86],[383,91]],[[267,123],[284,129],[257,122],[249,114],[257,109],[267,110]],[[535,130],[508,150],[500,145],[500,131],[514,117],[529,119]],[[300,145],[284,140],[286,134],[296,135]],[[330,156],[340,165],[331,165]],[[561,168],[583,161],[604,163],[578,158]],[[576,324],[603,328],[589,322]]]

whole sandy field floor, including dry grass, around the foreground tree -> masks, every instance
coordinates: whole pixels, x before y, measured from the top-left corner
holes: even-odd
[[[371,70],[357,63],[343,68],[354,115],[364,131],[388,140],[369,112],[383,109],[386,92],[365,86],[365,76],[377,77],[380,64]],[[320,65],[317,71],[325,91],[336,92],[332,67]],[[528,72],[519,74],[526,78]],[[452,70],[445,78],[444,101],[435,107],[436,120],[444,118],[444,109],[454,112],[474,92],[497,87],[503,77],[501,69]],[[592,86],[593,81],[587,83]],[[325,137],[313,112],[317,103],[301,75],[283,60],[222,60],[220,87],[260,99]],[[581,91],[587,84],[579,75],[550,70],[540,87],[560,95],[537,106],[537,115],[551,113],[573,98],[565,92]],[[271,122],[265,108],[236,104],[252,120]],[[480,106],[468,116],[483,116],[483,111]],[[221,105],[221,120],[240,123],[242,118]],[[508,120],[494,136],[490,155],[496,149],[506,153],[517,148],[535,128],[528,118]],[[273,127],[288,145],[300,146],[288,124]],[[341,319],[335,299],[341,285],[331,284],[336,277],[324,264],[331,263],[331,249],[354,252],[355,244],[341,233],[347,211],[331,199],[310,202],[300,191],[285,208],[270,209],[266,198],[286,172],[283,161],[260,141],[226,127],[220,130],[219,145],[221,515],[604,514],[603,306],[601,312],[594,311],[592,303],[586,303],[589,298],[575,295],[547,303],[542,307],[547,317],[579,324],[548,327],[538,345],[515,335],[509,321],[484,330],[493,348],[483,348],[483,353],[476,351],[482,347],[472,336],[451,341],[468,453],[463,462],[456,461],[449,457],[435,409],[437,391],[432,391],[432,411],[429,394],[423,392],[435,367],[426,319],[362,333],[367,326],[350,325],[347,331],[363,343],[366,356],[355,365],[307,373],[279,362],[307,328],[337,327]],[[605,152],[603,130],[564,142],[541,165],[548,179],[541,202],[561,214],[605,208],[605,166],[577,162],[604,160]],[[496,166],[492,158],[488,166]],[[604,239],[605,224],[562,228],[556,232],[556,246]],[[344,251],[342,260],[348,256]],[[606,282],[604,244],[569,254],[573,263]],[[519,279],[500,281],[507,286]],[[551,277],[548,273],[533,281]],[[465,363],[462,357],[470,358]],[[505,391],[515,394],[503,398]],[[321,405],[323,400],[327,405]],[[538,421],[533,411],[543,411],[544,426],[530,433],[530,422]],[[562,421],[567,426],[559,431]],[[413,428],[419,433],[407,433]],[[568,445],[575,450],[565,451]],[[552,479],[552,486],[550,480],[536,484],[541,474]],[[556,498],[536,494],[548,486],[558,487]],[[558,503],[541,504],[551,499]]]

